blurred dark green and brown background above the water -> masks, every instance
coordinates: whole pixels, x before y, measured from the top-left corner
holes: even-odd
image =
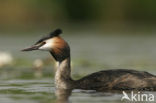
[[[0,0],[0,31],[155,30],[155,4],[155,0]]]

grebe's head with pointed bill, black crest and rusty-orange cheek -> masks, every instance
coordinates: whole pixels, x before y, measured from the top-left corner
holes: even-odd
[[[41,38],[33,46],[23,49],[22,51],[49,51],[56,61],[62,61],[70,57],[70,48],[68,43],[59,36],[61,33],[61,29],[56,29],[48,36]]]

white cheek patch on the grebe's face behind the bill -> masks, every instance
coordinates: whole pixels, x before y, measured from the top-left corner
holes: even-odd
[[[54,40],[53,39],[49,39],[49,40],[46,40],[45,42],[46,42],[46,44],[44,44],[43,46],[41,46],[39,48],[39,50],[50,51],[52,49],[52,47],[53,47]]]

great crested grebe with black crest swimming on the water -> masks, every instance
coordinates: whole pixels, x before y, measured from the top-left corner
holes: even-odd
[[[22,51],[49,51],[58,62],[55,73],[56,88],[84,90],[156,90],[156,76],[148,72],[114,69],[92,73],[79,80],[71,78],[70,47],[56,29],[48,36],[37,41],[33,46]]]

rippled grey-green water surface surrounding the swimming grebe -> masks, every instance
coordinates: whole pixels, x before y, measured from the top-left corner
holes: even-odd
[[[79,79],[103,69],[126,68],[145,70],[156,74],[156,40],[150,36],[65,36],[71,47],[72,76]],[[24,39],[23,39],[24,38]],[[0,69],[0,103],[123,103],[120,92],[95,92],[85,90],[55,90],[51,64],[36,78],[32,69],[35,59],[50,57],[46,52],[22,53],[20,49],[38,40],[34,36],[1,36],[1,51],[9,51],[23,62]],[[28,63],[25,63],[25,60]],[[23,64],[22,64],[23,63]],[[84,69],[85,68],[85,69]],[[70,93],[71,92],[71,93]],[[150,93],[150,92],[147,92]],[[156,92],[152,92],[156,95]]]

